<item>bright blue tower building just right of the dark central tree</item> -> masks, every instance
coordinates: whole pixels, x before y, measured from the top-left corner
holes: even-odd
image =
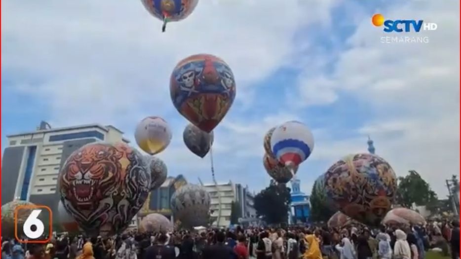
[[[310,216],[309,196],[301,191],[301,181],[294,178],[291,180],[291,222],[306,223]]]

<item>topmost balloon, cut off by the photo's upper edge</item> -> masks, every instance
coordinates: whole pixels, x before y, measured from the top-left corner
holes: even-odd
[[[141,0],[149,13],[163,21],[162,32],[166,23],[186,19],[197,6],[198,0]]]

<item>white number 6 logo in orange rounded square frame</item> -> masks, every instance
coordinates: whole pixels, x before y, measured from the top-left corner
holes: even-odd
[[[48,214],[48,231],[45,232],[45,224],[40,218],[40,215]],[[19,217],[21,215],[21,217]],[[27,219],[24,218],[27,216]],[[53,213],[48,206],[43,205],[22,205],[17,206],[14,210],[14,236],[19,243],[41,243],[45,244],[51,240]],[[33,228],[35,226],[35,229]],[[22,239],[19,236],[25,236],[27,239]],[[46,238],[43,236],[47,235]],[[40,239],[40,237],[42,237]]]

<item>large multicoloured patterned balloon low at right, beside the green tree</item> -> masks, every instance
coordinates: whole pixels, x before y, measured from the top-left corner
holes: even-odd
[[[377,226],[390,210],[397,190],[395,173],[381,157],[349,155],[325,173],[328,197],[354,220]]]

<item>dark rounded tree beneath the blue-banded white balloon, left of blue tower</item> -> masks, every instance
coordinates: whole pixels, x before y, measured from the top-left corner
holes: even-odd
[[[269,224],[286,223],[290,203],[290,188],[275,182],[258,193],[254,200],[256,213]]]

